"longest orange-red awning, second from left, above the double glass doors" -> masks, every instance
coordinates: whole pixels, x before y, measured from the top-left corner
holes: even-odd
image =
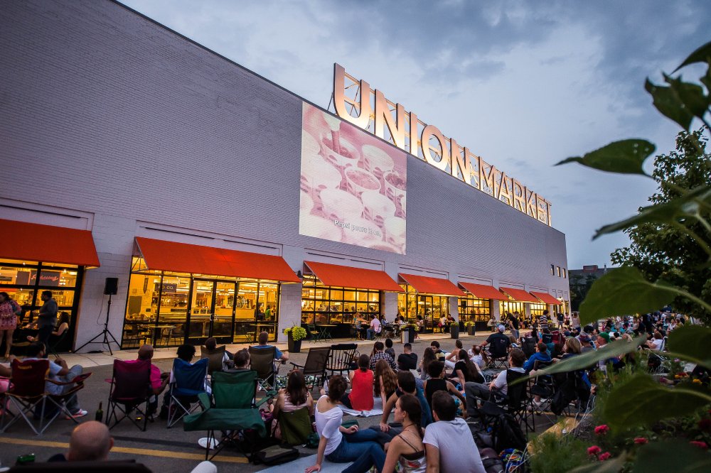
[[[136,237],[149,269],[300,283],[281,256]]]

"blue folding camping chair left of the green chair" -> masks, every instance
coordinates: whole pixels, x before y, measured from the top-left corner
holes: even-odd
[[[190,364],[180,358],[173,360],[173,382],[168,391],[168,428],[198,408],[198,394],[205,392],[208,361],[203,358]]]

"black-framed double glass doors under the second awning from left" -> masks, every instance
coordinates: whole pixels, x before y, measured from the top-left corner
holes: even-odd
[[[234,300],[235,283],[193,279],[188,343],[202,344],[208,337],[215,337],[218,343],[232,342]]]

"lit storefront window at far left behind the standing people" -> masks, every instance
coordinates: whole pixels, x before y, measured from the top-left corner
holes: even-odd
[[[9,294],[21,308],[20,325],[14,332],[14,342],[26,342],[28,335],[36,335],[34,323],[43,302],[43,290],[52,291],[60,314],[65,312],[70,319],[68,335],[60,341],[50,338],[57,351],[71,348],[76,327],[79,295],[84,275],[83,266],[38,261],[0,260],[0,291]]]

